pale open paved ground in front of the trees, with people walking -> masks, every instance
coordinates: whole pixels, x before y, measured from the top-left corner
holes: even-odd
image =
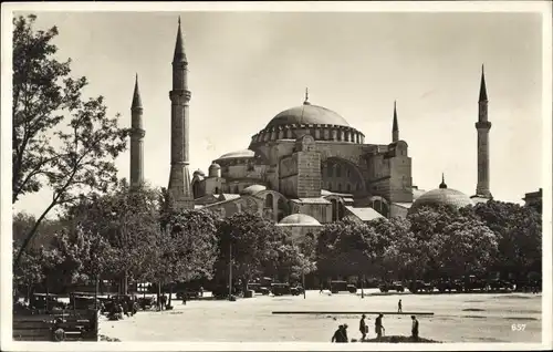
[[[262,297],[229,301],[175,301],[173,311],[139,312],[122,321],[102,321],[101,333],[122,341],[196,342],[324,342],[338,324],[348,324],[349,339],[359,338],[359,315],[275,315],[272,311],[430,311],[419,317],[420,337],[445,342],[541,342],[541,294],[371,294]],[[374,338],[369,315],[369,338]],[[385,315],[386,334],[410,334],[409,315]],[[512,325],[519,331],[512,331]]]

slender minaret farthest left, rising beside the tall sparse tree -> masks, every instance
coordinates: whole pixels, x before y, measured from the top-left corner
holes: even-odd
[[[142,99],[136,74],[135,92],[131,105],[131,187],[137,187],[144,182],[144,135],[142,122]]]

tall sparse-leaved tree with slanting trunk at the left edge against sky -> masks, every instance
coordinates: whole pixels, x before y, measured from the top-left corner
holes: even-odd
[[[12,203],[44,185],[53,194],[15,262],[52,209],[77,200],[86,189],[106,191],[116,180],[114,159],[128,134],[117,117],[107,116],[102,96],[82,100],[86,79],[70,76],[71,61],[54,58],[58,48],[51,41],[58,29],[34,32],[35,18],[13,20]]]

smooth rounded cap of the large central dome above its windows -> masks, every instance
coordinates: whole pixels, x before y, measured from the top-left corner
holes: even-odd
[[[344,117],[332,110],[307,103],[279,113],[265,128],[293,124],[349,126]]]

